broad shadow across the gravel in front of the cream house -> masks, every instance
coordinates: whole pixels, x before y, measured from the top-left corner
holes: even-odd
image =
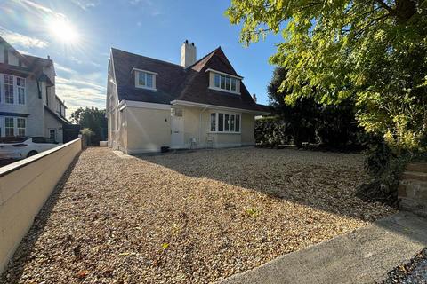
[[[366,178],[358,154],[243,147],[137,157],[187,177],[241,186],[345,217],[373,221],[387,215],[375,212],[384,212],[383,205],[355,197],[356,186]]]

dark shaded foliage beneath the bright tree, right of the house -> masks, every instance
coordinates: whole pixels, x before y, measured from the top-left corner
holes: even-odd
[[[282,141],[287,144],[292,140],[301,147],[302,142],[320,142],[323,146],[351,147],[352,150],[366,144],[367,135],[355,119],[354,100],[345,99],[337,105],[325,106],[310,97],[286,104],[287,96],[292,95],[292,91],[280,89],[286,74],[286,69],[281,67],[273,73],[267,89],[270,106],[278,117],[257,122],[257,143],[277,146]]]

